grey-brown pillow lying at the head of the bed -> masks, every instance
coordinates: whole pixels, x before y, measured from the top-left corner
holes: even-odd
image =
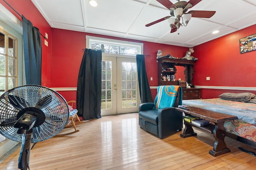
[[[221,99],[240,102],[248,102],[255,96],[253,93],[222,93],[219,95]]]

